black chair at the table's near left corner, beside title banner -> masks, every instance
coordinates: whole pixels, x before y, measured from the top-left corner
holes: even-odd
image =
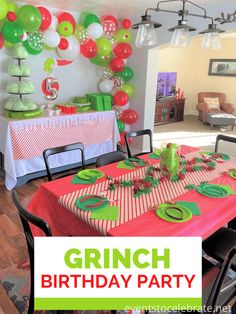
[[[30,300],[28,313],[34,313],[34,238],[29,223],[41,229],[47,237],[52,236],[51,229],[46,221],[29,213],[20,203],[16,191],[12,192],[13,202],[20,215],[21,223],[24,229],[27,242],[29,260],[30,260]]]

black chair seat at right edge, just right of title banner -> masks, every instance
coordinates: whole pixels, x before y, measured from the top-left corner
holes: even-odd
[[[236,230],[225,227],[217,230],[202,243],[203,251],[221,264],[233,247],[236,247]],[[236,271],[236,258],[231,267]]]

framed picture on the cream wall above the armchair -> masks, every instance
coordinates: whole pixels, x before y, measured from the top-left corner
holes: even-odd
[[[208,75],[236,77],[236,59],[210,59]]]

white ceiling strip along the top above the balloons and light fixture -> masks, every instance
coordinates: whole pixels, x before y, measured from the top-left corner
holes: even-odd
[[[224,0],[193,0],[194,3],[204,5],[217,5],[225,3]],[[34,5],[45,5],[48,7],[60,8],[68,11],[89,11],[98,15],[115,14],[117,17],[122,16],[140,16],[146,8],[155,8],[158,1],[156,0],[23,0],[24,3]],[[235,0],[233,0],[235,2]],[[180,1],[163,4],[165,8],[181,8]],[[192,6],[191,6],[192,11]]]

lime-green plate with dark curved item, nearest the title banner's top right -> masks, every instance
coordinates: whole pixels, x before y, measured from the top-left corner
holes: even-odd
[[[182,211],[183,217],[181,220],[171,218],[165,212],[166,208],[170,207],[170,206],[171,206],[170,204],[161,204],[160,207],[156,210],[156,215],[163,220],[166,220],[169,222],[177,222],[177,223],[186,222],[186,221],[190,220],[193,216],[192,212],[188,208],[186,208],[182,205],[176,204],[173,206],[179,208]],[[169,209],[168,212],[173,216],[180,217],[180,213],[174,208]]]

